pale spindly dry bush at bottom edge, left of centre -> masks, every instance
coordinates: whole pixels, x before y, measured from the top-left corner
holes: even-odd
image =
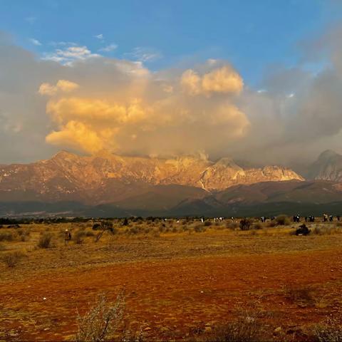
[[[78,314],[78,331],[74,341],[100,342],[110,338],[122,323],[124,306],[123,292],[113,304],[108,304],[105,295],[99,294],[84,316]]]

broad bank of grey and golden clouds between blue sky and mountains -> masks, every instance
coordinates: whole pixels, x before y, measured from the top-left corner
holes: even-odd
[[[0,143],[6,148],[0,163],[41,159],[61,148],[204,152],[288,165],[326,148],[342,152],[341,36],[336,28],[306,44],[304,51],[325,51],[320,71],[272,67],[252,89],[229,61],[152,72],[142,61],[147,55],[105,58],[86,46],[38,58],[1,33]]]

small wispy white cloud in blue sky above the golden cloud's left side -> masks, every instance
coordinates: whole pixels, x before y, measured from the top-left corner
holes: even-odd
[[[45,53],[43,59],[70,66],[74,61],[85,61],[99,56],[97,53],[92,53],[86,46],[68,46],[63,49],[57,48],[52,53]]]

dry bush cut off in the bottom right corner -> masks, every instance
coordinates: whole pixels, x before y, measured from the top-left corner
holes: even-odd
[[[314,326],[314,338],[317,342],[342,342],[342,323],[336,318],[328,318]]]

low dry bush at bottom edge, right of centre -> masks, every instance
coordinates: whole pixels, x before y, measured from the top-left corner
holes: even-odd
[[[205,339],[206,342],[257,342],[264,341],[259,311],[241,310],[234,321],[217,326]]]

